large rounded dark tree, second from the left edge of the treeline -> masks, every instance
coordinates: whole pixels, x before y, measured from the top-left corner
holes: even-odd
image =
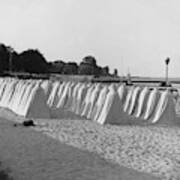
[[[23,51],[20,55],[21,67],[29,73],[46,73],[48,72],[48,63],[44,56],[34,49]]]

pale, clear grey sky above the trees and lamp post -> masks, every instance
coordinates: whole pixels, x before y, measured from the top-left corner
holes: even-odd
[[[180,77],[179,0],[0,0],[0,42],[119,75]]]

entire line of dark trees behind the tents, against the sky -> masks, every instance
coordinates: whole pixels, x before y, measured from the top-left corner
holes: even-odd
[[[0,44],[0,73],[4,72],[110,75],[109,67],[98,66],[93,56],[84,57],[79,64],[71,61],[64,62],[62,60],[48,62],[37,49],[28,49],[18,53],[12,47]],[[114,72],[117,75],[116,69]]]

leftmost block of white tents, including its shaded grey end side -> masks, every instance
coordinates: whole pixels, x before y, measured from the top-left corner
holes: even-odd
[[[0,107],[28,118],[50,118],[40,81],[0,79]]]

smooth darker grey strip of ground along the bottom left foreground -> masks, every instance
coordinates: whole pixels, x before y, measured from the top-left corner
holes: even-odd
[[[156,180],[0,119],[0,161],[14,180]],[[3,180],[3,179],[2,179]]]

